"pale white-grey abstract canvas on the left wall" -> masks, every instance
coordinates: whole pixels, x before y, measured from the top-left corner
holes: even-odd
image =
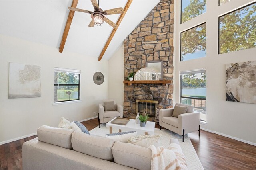
[[[9,99],[41,96],[40,66],[9,63]]]

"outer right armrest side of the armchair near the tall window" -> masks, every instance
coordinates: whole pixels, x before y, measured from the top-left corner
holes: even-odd
[[[183,129],[185,130],[185,134],[188,134],[193,131],[197,131],[200,125],[200,113],[192,112],[192,113],[184,113],[178,116],[178,133],[182,135]]]

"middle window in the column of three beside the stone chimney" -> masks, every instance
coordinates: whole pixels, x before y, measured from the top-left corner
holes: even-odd
[[[180,61],[206,56],[206,23],[182,32],[180,37]]]

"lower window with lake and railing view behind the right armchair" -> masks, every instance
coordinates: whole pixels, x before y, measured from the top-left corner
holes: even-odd
[[[206,122],[206,70],[181,72],[181,103],[194,106]]]

